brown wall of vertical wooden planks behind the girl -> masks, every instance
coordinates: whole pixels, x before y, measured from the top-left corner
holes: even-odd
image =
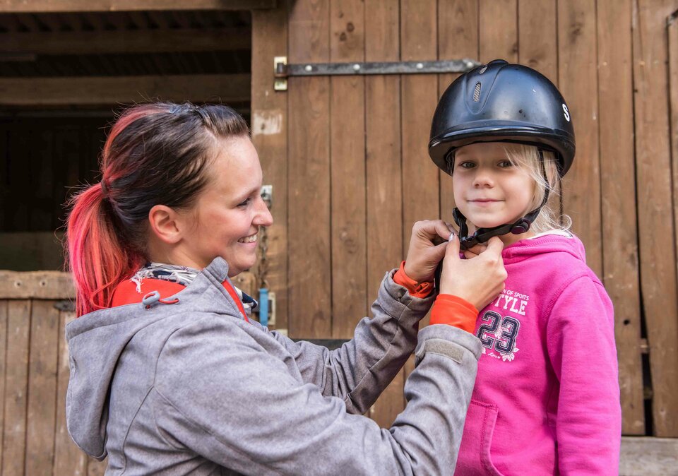
[[[520,62],[554,81],[573,115],[577,156],[562,208],[614,302],[623,432],[677,437],[678,47],[667,18],[678,2],[280,3],[254,13],[252,43],[253,136],[275,197],[265,278],[276,326],[295,338],[349,338],[383,273],[404,258],[412,223],[451,221],[451,179],[427,142],[455,76],[290,78],[275,92],[273,56]],[[385,425],[402,410],[407,373],[373,409]]]

